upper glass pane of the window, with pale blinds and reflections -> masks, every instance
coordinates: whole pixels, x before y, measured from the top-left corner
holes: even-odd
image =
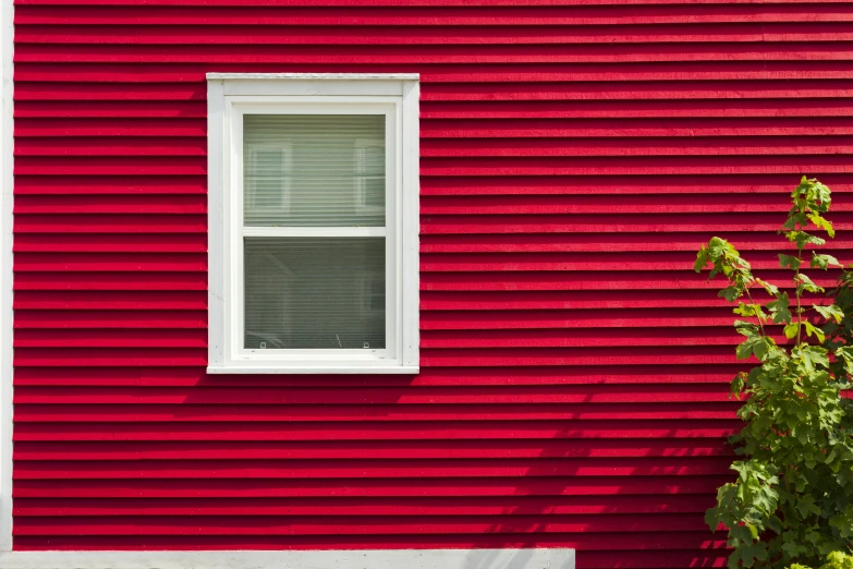
[[[246,114],[244,223],[385,226],[383,114]]]

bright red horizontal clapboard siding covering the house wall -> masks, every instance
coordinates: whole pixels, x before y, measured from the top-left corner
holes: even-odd
[[[17,0],[16,549],[724,565],[691,265],[781,276],[801,172],[853,227],[853,4],[419,3]],[[205,376],[207,71],[422,73],[421,376]]]

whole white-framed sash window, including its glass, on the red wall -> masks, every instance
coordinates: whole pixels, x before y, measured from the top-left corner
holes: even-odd
[[[209,373],[417,373],[417,75],[209,73]]]

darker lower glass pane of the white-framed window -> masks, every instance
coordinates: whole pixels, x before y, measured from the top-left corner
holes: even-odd
[[[385,348],[385,238],[246,238],[245,348]]]

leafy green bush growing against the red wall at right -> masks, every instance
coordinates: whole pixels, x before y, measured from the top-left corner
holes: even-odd
[[[831,302],[819,296],[824,289],[802,269],[806,250],[811,268],[841,266],[815,251],[824,239],[806,232],[834,235],[822,217],[830,190],[804,177],[791,198],[780,233],[796,255],[779,255],[793,273],[790,292],[753,276],[726,240],[714,238],[697,254],[696,271],[710,265],[709,279],[724,277],[719,295],[746,318],[734,322],[745,337],[738,358],[759,362],[732,382],[732,396],[745,401],[738,415],[746,424],[730,439],[742,459],[706,521],[728,529],[730,568],[853,569],[853,400],[841,395],[853,376],[853,276],[843,274]]]

